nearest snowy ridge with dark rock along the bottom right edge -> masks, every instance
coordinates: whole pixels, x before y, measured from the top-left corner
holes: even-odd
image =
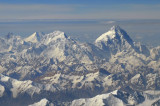
[[[116,90],[93,98],[74,100],[70,104],[71,106],[151,106],[160,99],[159,93],[152,92],[156,91],[128,93]]]

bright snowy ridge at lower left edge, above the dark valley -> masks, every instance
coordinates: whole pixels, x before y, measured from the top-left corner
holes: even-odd
[[[12,92],[12,97],[16,98],[19,94],[27,93],[30,96],[33,96],[34,93],[39,93],[40,89],[32,85],[32,81],[18,81],[10,77],[0,75],[1,85],[1,97],[6,89]]]

